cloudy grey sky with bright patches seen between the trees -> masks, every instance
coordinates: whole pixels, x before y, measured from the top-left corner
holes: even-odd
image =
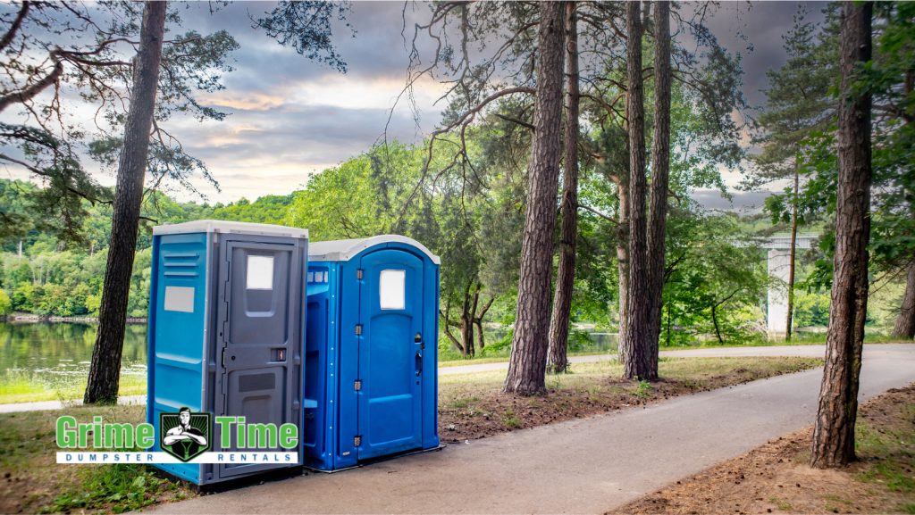
[[[230,116],[206,123],[176,119],[169,127],[219,181],[221,192],[202,180],[195,183],[210,201],[283,195],[302,188],[311,174],[376,142],[404,87],[408,58],[401,35],[402,2],[353,3],[349,22],[355,35],[345,27],[336,27],[334,34],[336,48],[349,65],[345,75],[303,58],[253,28],[252,18],[263,16],[272,6],[236,2],[210,14],[208,4],[200,3],[182,11],[186,28],[226,29],[241,45],[233,54],[235,70],[224,76],[225,90],[200,97],[202,103]],[[808,5],[812,19],[820,17],[822,6]],[[760,90],[767,84],[765,71],[784,62],[781,36],[791,27],[797,8],[795,2],[726,2],[709,19],[719,41],[743,56],[744,94],[750,105],[764,103]],[[415,19],[424,19],[428,12],[422,3],[408,9],[408,17]],[[389,135],[416,142],[433,130],[444,108],[435,104],[442,91],[434,80],[418,84],[419,123],[402,104],[393,112]],[[22,177],[14,169],[0,173]],[[725,175],[729,186],[739,182],[736,174]],[[99,180],[113,184],[113,177],[105,174],[100,173]],[[696,197],[710,208],[728,205],[713,192],[697,192]],[[759,193],[742,193],[735,204],[758,206],[761,198]]]

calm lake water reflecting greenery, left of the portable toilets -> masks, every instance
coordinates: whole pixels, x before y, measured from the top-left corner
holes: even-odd
[[[98,324],[0,322],[0,393],[16,383],[70,390],[89,375]],[[146,326],[128,324],[122,377],[146,375]]]

